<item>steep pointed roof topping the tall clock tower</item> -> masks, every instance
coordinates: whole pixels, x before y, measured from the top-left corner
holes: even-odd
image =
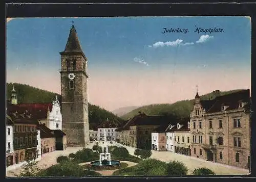
[[[82,47],[78,40],[74,25],[72,25],[70,29],[69,38],[65,50],[62,53],[82,53]]]

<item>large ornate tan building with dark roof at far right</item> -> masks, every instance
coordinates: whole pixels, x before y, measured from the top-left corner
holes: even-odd
[[[191,155],[207,161],[248,168],[250,164],[249,90],[201,100],[190,114]],[[193,125],[192,125],[193,123]]]

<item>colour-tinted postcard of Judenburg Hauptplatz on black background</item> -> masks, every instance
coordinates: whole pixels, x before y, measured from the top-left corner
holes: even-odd
[[[6,29],[7,177],[250,173],[250,17]]]

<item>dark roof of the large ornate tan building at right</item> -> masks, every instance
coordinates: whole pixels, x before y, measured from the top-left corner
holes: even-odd
[[[249,89],[216,97],[209,110],[206,110],[206,113],[221,112],[222,106],[228,106],[225,111],[236,110],[239,108],[240,101],[250,103]],[[245,109],[246,107],[248,106],[244,106]]]

